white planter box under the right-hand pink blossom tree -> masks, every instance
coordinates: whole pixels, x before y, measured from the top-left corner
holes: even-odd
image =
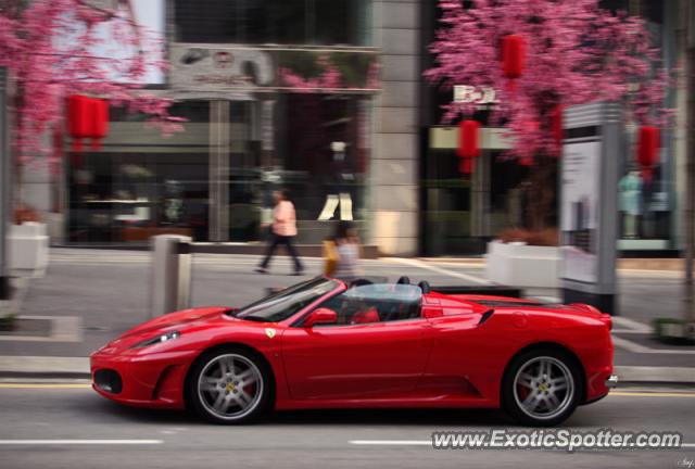
[[[514,287],[559,288],[560,250],[526,243],[488,243],[488,280]]]

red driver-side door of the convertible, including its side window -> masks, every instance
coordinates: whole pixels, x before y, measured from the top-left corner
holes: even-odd
[[[386,287],[391,289],[384,291]],[[420,317],[419,289],[406,292],[401,287],[412,286],[399,286],[394,293],[393,287],[353,288],[320,306],[340,312],[337,324],[283,332],[282,358],[292,398],[384,398],[415,389],[428,359],[429,322]]]

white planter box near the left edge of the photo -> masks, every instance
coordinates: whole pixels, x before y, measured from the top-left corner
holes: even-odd
[[[48,233],[45,224],[27,221],[10,225],[8,236],[10,269],[42,274],[48,265]]]

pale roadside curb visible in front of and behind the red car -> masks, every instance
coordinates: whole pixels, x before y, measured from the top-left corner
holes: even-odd
[[[693,384],[695,368],[616,366],[620,384]],[[0,356],[0,376],[14,378],[90,378],[88,357]]]

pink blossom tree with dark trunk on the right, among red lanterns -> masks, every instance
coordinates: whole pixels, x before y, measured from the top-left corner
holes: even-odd
[[[464,3],[466,3],[464,5]],[[555,192],[552,115],[558,105],[598,100],[624,103],[637,125],[666,125],[668,76],[644,20],[602,10],[598,0],[440,0],[441,28],[431,45],[435,66],[426,77],[444,89],[492,87],[500,103],[493,123],[510,129],[507,156],[532,162],[530,225],[545,227]],[[504,76],[501,45],[507,35],[525,42],[525,66],[511,83]],[[470,116],[476,103],[452,102],[444,119]]]

